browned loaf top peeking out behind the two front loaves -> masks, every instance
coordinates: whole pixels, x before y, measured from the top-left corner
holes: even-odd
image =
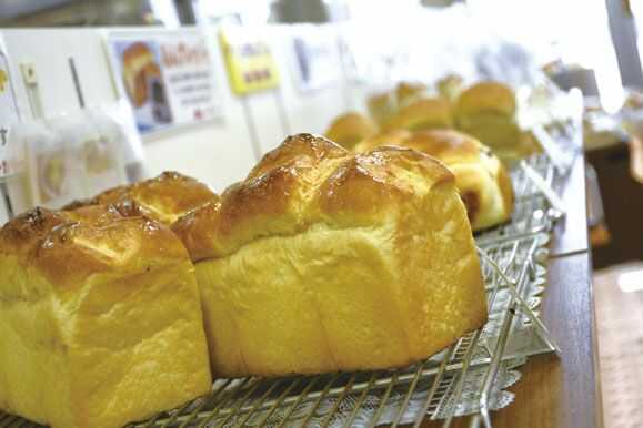
[[[172,224],[181,215],[218,200],[205,184],[178,172],[163,172],[154,179],[110,188],[89,201],[73,202],[64,210],[97,204],[135,205],[140,214],[164,224]]]

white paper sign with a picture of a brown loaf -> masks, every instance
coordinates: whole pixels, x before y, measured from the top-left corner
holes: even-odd
[[[193,31],[112,33],[112,70],[141,133],[220,115],[204,37]]]

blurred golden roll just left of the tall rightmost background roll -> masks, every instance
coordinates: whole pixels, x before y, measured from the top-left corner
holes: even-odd
[[[383,126],[384,131],[404,129],[421,131],[453,126],[451,103],[439,98],[425,98],[401,108]]]

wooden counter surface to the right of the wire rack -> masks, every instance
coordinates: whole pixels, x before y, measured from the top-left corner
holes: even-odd
[[[531,357],[519,369],[522,379],[510,388],[515,401],[492,414],[494,428],[603,427],[584,173],[581,156],[570,176],[555,185],[567,214],[553,232],[542,316],[561,347],[561,358]],[[468,427],[469,420],[454,420],[452,426]]]

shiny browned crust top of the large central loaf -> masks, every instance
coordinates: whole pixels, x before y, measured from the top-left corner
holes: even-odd
[[[402,147],[352,154],[333,142],[298,134],[263,156],[220,201],[183,216],[172,230],[193,261],[232,254],[265,236],[292,235],[315,223],[333,227],[385,222],[404,202],[454,182],[439,161]]]

